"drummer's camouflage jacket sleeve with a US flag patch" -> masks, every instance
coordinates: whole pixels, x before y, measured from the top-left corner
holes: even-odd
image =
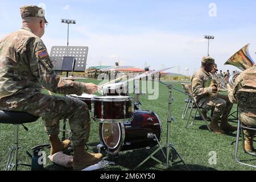
[[[28,60],[32,73],[38,78],[38,81],[51,92],[60,94],[81,95],[85,84],[71,80],[63,80],[56,75],[52,61],[41,39],[32,38],[27,45]]]

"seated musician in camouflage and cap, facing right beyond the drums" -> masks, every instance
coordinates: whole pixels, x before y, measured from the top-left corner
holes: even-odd
[[[237,127],[228,123],[228,115],[233,104],[228,96],[218,94],[216,84],[212,84],[210,72],[213,71],[213,67],[214,59],[209,56],[203,57],[200,70],[192,76],[192,93],[199,106],[204,109],[213,109],[210,129],[217,134],[224,134],[225,131],[235,131]],[[218,126],[220,117],[221,124]]]

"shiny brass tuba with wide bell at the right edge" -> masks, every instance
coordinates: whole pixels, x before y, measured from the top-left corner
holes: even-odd
[[[245,71],[248,68],[251,68],[254,65],[253,59],[251,59],[251,56],[249,54],[249,47],[250,44],[247,44],[245,47],[242,47],[239,51],[234,53],[233,56],[231,56],[228,61],[226,61],[226,64],[233,65],[242,71]],[[234,86],[234,81],[236,80],[237,76],[240,75],[241,72],[236,72],[233,75],[229,77],[229,85]]]

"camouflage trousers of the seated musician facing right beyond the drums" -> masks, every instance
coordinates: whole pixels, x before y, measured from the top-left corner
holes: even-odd
[[[229,101],[229,97],[225,95],[218,95],[216,98],[200,98],[198,101],[199,106],[213,110],[213,118],[220,118],[222,114],[223,119],[227,119],[228,115],[233,107],[232,102]]]

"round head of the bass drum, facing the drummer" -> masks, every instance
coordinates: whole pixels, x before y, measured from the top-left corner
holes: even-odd
[[[121,145],[121,126],[118,123],[102,123],[101,138],[110,151]]]

